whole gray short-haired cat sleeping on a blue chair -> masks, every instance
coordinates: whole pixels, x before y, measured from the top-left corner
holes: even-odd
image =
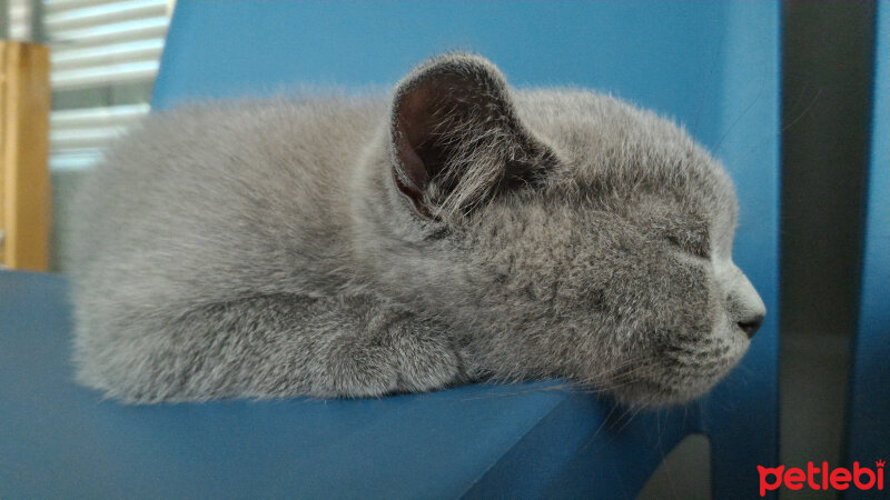
[[[78,379],[127,402],[551,377],[682,402],[765,312],[732,183],[682,130],[469,54],[386,100],[155,114],[77,211]]]

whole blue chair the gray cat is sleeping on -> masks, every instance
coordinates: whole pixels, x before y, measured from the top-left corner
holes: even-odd
[[[736,261],[770,310],[739,369],[699,402],[635,418],[553,382],[123,407],[70,381],[63,280],[6,273],[0,497],[632,498],[695,432],[714,497],[756,496],[756,466],[778,461],[777,4],[180,0],[154,104],[390,84],[449,49],[517,86],[616,93],[716,152],[741,199]]]

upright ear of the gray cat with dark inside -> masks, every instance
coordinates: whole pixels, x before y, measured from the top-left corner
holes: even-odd
[[[543,182],[555,154],[516,117],[487,60],[446,54],[396,88],[393,177],[425,217],[466,214],[498,192]]]

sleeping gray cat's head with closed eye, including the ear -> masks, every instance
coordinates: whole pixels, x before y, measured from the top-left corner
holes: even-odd
[[[398,84],[385,136],[363,251],[390,294],[468,333],[476,374],[663,404],[746,351],[765,310],[732,263],[732,182],[671,122],[447,54]]]

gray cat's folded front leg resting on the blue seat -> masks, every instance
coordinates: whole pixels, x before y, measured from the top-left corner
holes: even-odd
[[[78,379],[128,402],[380,397],[463,380],[445,328],[370,297],[248,297],[116,316],[81,307]],[[125,316],[126,314],[126,316]]]

